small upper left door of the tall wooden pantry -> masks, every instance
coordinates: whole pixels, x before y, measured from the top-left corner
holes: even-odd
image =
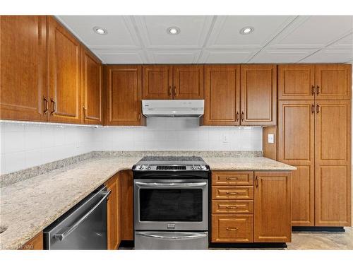
[[[313,100],[314,98],[314,64],[282,64],[278,66],[279,100]]]

